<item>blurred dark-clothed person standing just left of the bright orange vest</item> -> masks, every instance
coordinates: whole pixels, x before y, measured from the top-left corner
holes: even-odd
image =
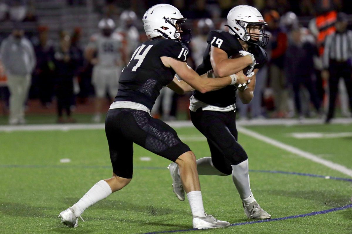
[[[294,92],[295,106],[300,119],[303,111],[300,100],[300,90],[307,88],[310,101],[317,113],[320,113],[320,100],[316,92],[314,79],[313,56],[318,55],[318,49],[312,41],[304,40],[304,29],[294,26],[289,32],[289,44],[285,54],[285,76]]]

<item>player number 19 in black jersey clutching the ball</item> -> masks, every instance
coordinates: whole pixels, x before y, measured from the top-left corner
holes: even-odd
[[[195,91],[190,98],[189,107],[191,120],[194,126],[206,136],[211,153],[211,157],[197,160],[198,173],[200,175],[232,174],[245,214],[252,219],[270,219],[271,215],[260,208],[251,192],[248,157],[237,142],[235,102],[236,93],[244,104],[249,103],[253,98],[256,74],[267,61],[266,53],[262,48],[266,46],[269,39],[269,35],[264,33],[265,25],[262,15],[254,7],[240,5],[231,9],[227,15],[229,31],[215,30],[208,34],[208,47],[203,63],[197,67],[196,72],[203,74],[213,69],[216,76],[222,77],[248,67],[247,75],[253,75],[251,82],[247,86],[226,86],[207,93]],[[243,56],[230,59],[230,56],[238,54]],[[169,168],[173,164],[171,163]],[[174,189],[174,192],[182,198],[181,186]]]

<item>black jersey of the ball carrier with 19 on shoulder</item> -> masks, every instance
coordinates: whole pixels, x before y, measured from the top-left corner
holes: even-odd
[[[212,64],[210,63],[210,46],[215,46],[222,49],[227,53],[227,57],[236,55],[239,53],[239,51],[243,50],[240,42],[235,35],[221,30],[211,31],[208,34],[207,42],[208,47],[203,56],[203,63],[196,69],[196,72],[200,75],[213,69]],[[266,52],[260,46],[249,44],[248,52],[253,54],[254,58],[256,59],[257,64],[254,66],[254,69],[263,67],[264,64],[268,61]],[[209,105],[226,107],[233,105],[233,103],[236,102],[236,91],[236,86],[229,85],[222,89],[207,93],[194,91],[193,95],[196,99]]]

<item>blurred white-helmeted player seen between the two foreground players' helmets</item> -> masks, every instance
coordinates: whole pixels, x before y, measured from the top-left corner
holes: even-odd
[[[190,46],[191,46],[191,55],[194,60],[195,66],[201,65],[203,62],[203,55],[208,47],[207,35],[210,31],[215,29],[214,23],[211,19],[200,19],[197,24],[197,29],[199,34],[193,36]]]

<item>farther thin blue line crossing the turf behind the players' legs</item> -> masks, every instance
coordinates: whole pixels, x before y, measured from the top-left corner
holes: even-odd
[[[84,169],[111,169],[111,166],[79,166],[79,165],[0,165],[0,168],[84,168]],[[151,170],[166,170],[166,167],[133,167],[133,169],[151,169]],[[343,180],[352,182],[350,178],[340,178],[326,175],[315,175],[310,173],[300,172],[284,172],[284,171],[266,171],[266,170],[249,170],[250,172],[261,172],[261,173],[274,173],[274,174],[289,174],[289,175],[301,175],[309,177],[318,177],[323,179],[331,180]]]

